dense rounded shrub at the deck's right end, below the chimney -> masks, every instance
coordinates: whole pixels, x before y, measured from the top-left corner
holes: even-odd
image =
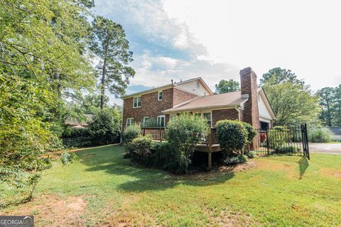
[[[223,120],[216,124],[217,139],[225,150],[240,152],[247,143],[248,133],[244,123],[240,121]]]

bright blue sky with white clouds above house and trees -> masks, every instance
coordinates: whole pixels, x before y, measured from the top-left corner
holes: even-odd
[[[109,1],[94,14],[121,23],[134,52],[127,94],[202,77],[258,77],[273,67],[296,72],[313,90],[341,83],[340,1]],[[121,100],[111,97],[111,102]]]

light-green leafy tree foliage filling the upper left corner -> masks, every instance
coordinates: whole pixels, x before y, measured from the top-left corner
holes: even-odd
[[[58,93],[93,84],[86,54],[93,1],[0,1],[0,66]]]

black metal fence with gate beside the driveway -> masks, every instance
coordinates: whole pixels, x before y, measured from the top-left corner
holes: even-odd
[[[310,159],[307,124],[258,130],[252,147],[258,154],[298,155]]]

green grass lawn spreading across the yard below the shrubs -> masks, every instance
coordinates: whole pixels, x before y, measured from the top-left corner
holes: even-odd
[[[107,146],[80,151],[66,167],[54,162],[36,199],[3,212],[42,214],[40,198],[53,195],[84,199],[75,214],[85,226],[340,226],[341,155],[258,157],[249,170],[175,176],[123,154]],[[42,215],[35,221],[49,226]]]

